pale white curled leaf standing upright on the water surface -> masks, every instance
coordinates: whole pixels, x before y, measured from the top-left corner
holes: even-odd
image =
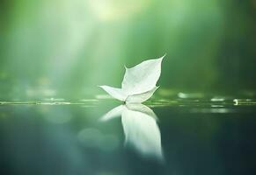
[[[127,103],[147,101],[157,90],[157,81],[161,74],[161,63],[165,56],[159,59],[149,59],[127,68],[121,83],[121,88],[99,86],[113,98]]]

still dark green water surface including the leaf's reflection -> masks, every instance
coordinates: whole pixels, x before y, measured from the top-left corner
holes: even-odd
[[[256,171],[253,99],[0,103],[1,174]]]

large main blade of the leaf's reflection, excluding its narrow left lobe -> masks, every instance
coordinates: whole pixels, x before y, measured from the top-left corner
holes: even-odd
[[[160,130],[154,117],[124,109],[121,123],[126,145],[132,146],[145,157],[163,158]]]

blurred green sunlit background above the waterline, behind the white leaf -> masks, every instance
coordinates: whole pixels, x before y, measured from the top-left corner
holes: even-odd
[[[2,0],[0,21],[1,100],[103,93],[165,53],[162,88],[256,88],[255,0]]]

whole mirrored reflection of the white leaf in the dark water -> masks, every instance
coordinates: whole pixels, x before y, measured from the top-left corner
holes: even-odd
[[[143,104],[120,105],[100,118],[106,122],[121,116],[125,145],[131,146],[143,157],[163,160],[160,130],[157,116]]]

